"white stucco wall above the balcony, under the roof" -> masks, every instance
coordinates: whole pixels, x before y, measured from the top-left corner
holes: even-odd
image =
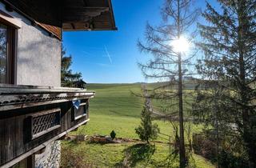
[[[62,42],[50,37],[46,30],[31,26],[21,14],[6,11],[1,2],[0,10],[22,21],[22,28],[18,29],[15,84],[61,86]]]

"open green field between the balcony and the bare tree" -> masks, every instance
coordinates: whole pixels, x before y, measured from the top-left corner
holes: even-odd
[[[91,84],[88,90],[95,90],[96,96],[90,101],[90,123],[84,128],[87,134],[110,134],[114,130],[118,137],[137,138],[134,128],[139,123],[142,99],[130,90],[138,92],[139,84]]]

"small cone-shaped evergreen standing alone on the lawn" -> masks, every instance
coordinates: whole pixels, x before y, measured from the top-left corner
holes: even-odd
[[[158,138],[158,125],[156,123],[152,124],[151,111],[146,102],[142,109],[141,125],[135,128],[135,131],[139,138],[147,143]]]

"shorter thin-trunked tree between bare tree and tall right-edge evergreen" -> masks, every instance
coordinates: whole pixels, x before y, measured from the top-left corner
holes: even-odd
[[[218,81],[206,80],[199,82],[200,85],[196,88],[196,98],[193,104],[193,115],[194,122],[201,123],[206,126],[206,130],[211,128],[210,139],[214,139],[216,143],[216,163],[219,167],[219,150],[220,150],[220,137],[222,139],[225,137],[226,132],[229,132],[226,126],[226,120],[229,118],[229,115],[223,111],[225,106],[225,97],[221,88],[218,88]],[[200,86],[203,86],[200,88]],[[215,149],[213,149],[215,150]],[[211,158],[214,159],[214,158]]]

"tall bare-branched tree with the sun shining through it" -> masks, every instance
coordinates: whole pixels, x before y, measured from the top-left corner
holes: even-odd
[[[146,25],[145,42],[138,41],[140,50],[149,53],[152,58],[146,64],[139,63],[146,78],[165,81],[149,90],[150,98],[168,102],[166,116],[178,115],[179,121],[179,158],[180,167],[187,163],[184,143],[183,123],[183,79],[192,76],[191,59],[194,51],[185,52],[185,48],[195,38],[194,23],[198,9],[191,10],[191,0],[165,0],[159,26]]]

